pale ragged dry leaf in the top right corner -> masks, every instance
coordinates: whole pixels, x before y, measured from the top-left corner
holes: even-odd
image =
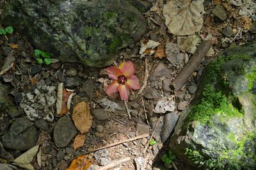
[[[256,2],[255,0],[230,0],[230,4],[240,7],[239,14],[248,16],[253,21],[256,20]]]

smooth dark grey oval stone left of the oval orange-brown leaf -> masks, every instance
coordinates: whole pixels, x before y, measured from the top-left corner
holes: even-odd
[[[77,129],[74,123],[65,116],[61,117],[54,125],[53,139],[58,148],[66,147],[76,134]]]

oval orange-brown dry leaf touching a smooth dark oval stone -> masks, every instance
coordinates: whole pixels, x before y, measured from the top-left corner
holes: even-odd
[[[81,134],[87,132],[92,127],[92,114],[89,104],[86,102],[78,103],[73,109],[72,119]]]

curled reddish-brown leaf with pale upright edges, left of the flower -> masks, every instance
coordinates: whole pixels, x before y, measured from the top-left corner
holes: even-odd
[[[58,85],[57,102],[56,102],[58,115],[67,114],[69,112],[71,99],[74,95],[76,95],[76,93],[73,93],[72,90],[67,91],[67,89],[63,88],[63,83],[60,83]]]

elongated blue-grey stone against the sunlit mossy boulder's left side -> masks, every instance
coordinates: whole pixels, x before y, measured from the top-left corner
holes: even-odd
[[[175,114],[174,112],[169,112],[168,114],[165,114],[164,125],[162,127],[161,133],[162,143],[164,143],[172,133],[172,130],[175,127],[178,118],[179,116],[177,116],[177,114]]]

